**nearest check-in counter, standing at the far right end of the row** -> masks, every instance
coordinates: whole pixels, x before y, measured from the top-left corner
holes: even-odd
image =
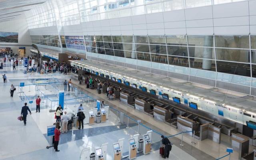
[[[249,137],[239,133],[231,134],[231,146],[238,152],[239,159],[249,152]]]

